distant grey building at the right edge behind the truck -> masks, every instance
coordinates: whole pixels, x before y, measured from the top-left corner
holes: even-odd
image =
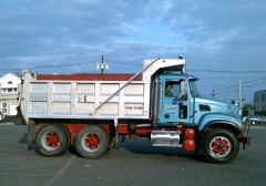
[[[266,90],[254,93],[254,112],[257,115],[266,115]]]

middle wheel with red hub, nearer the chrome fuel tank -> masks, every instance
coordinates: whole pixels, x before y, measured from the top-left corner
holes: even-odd
[[[99,158],[110,149],[110,138],[101,125],[89,125],[76,134],[75,149],[84,158]]]

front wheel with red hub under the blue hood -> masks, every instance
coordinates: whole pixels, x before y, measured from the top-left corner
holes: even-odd
[[[208,162],[226,164],[236,158],[239,152],[239,142],[231,131],[215,128],[204,136],[202,152]]]

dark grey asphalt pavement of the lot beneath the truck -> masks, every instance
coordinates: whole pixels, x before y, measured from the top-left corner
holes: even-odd
[[[99,159],[85,159],[74,148],[59,157],[28,151],[27,125],[14,117],[0,123],[0,186],[264,186],[266,125],[252,125],[252,145],[229,164],[207,163],[181,148],[152,147],[149,140],[120,141]]]

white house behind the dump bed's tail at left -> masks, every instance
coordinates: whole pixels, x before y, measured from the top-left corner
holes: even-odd
[[[16,115],[18,106],[20,78],[8,73],[0,78],[0,111],[4,115]]]

